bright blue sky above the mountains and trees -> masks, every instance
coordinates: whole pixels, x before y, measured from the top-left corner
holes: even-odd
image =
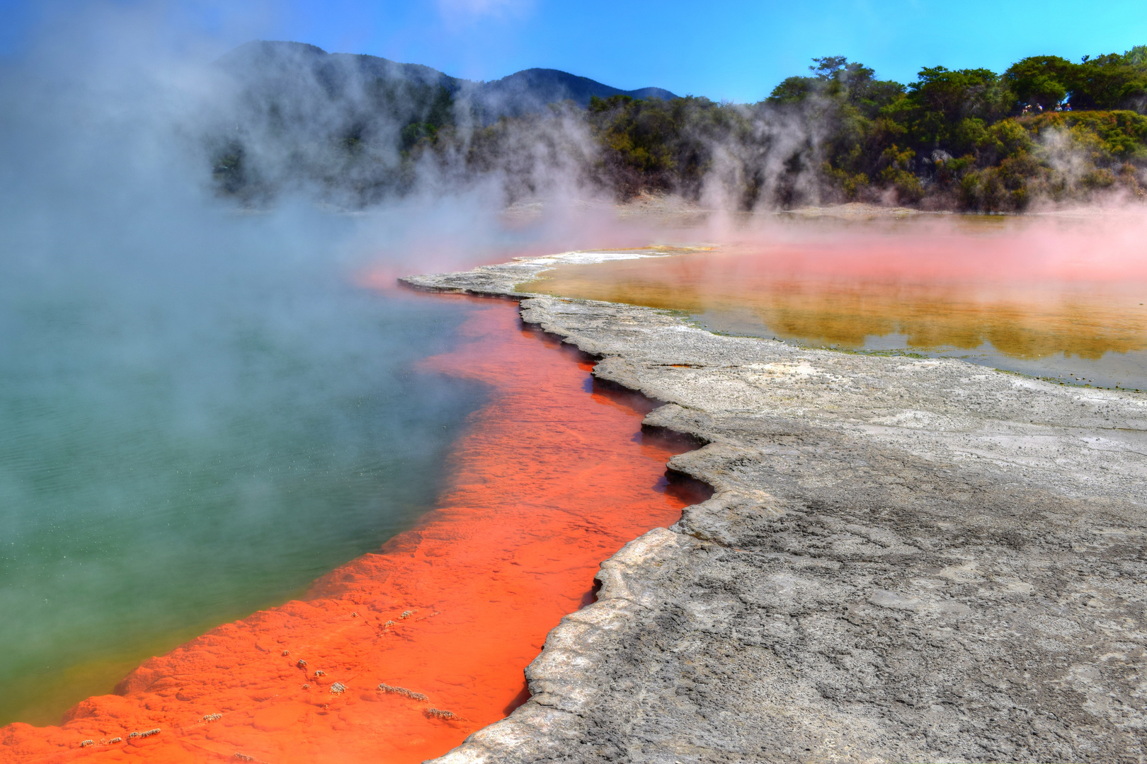
[[[818,55],[845,55],[907,81],[922,65],[1001,71],[1028,55],[1078,60],[1147,44],[1144,0],[0,0],[0,50],[18,50],[34,36],[45,8],[73,6],[150,7],[148,17],[162,19],[154,23],[194,31],[209,50],[291,39],[471,79],[547,66],[622,88],[656,85],[733,101],[764,97]]]

